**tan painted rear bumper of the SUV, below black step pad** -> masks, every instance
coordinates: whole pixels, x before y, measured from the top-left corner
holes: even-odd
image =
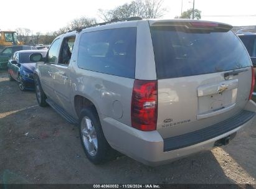
[[[251,116],[250,119],[241,122],[242,124],[239,126],[232,127],[231,130],[225,131],[211,139],[207,138],[205,141],[168,151],[164,150],[165,139],[160,136],[158,131],[138,131],[111,118],[103,119],[102,128],[107,141],[113,149],[143,164],[154,166],[166,164],[203,150],[211,150],[219,139],[231,136],[242,127],[252,124],[253,118],[254,116]]]

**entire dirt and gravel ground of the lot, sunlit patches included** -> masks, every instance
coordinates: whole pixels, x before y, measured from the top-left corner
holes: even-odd
[[[78,128],[37,106],[0,72],[0,183],[250,183],[256,184],[256,127],[231,143],[168,165],[147,167],[126,156],[105,165],[83,154]]]

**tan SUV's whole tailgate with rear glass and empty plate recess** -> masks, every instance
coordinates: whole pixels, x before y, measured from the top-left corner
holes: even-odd
[[[196,131],[242,111],[252,63],[230,25],[151,22],[163,138]]]

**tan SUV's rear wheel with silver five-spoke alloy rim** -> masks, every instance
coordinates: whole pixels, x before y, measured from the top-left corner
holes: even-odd
[[[97,111],[93,107],[82,109],[79,116],[80,139],[88,160],[103,164],[115,159],[117,152],[110,147],[102,131]]]

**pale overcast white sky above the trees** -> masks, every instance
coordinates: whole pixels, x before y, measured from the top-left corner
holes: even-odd
[[[192,8],[193,0],[164,0],[167,8],[163,19],[173,19]],[[194,0],[195,9],[201,12],[202,20],[224,22],[231,25],[256,25],[256,0]],[[33,34],[54,32],[79,17],[96,17],[102,21],[98,9],[113,9],[130,0],[12,0],[2,1],[0,30],[15,30],[17,27],[31,29]],[[6,7],[6,8],[5,8]]]

